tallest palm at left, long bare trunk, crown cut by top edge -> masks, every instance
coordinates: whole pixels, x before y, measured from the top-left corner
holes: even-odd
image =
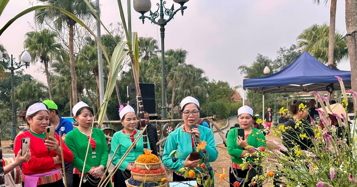
[[[39,0],[45,5],[52,5],[60,7],[66,11],[69,11],[79,19],[85,20],[92,16],[92,11],[89,6],[83,0]],[[92,8],[99,10],[99,6],[95,2],[90,2]],[[69,27],[69,58],[70,58],[70,72],[71,72],[71,83],[72,83],[72,98],[73,104],[78,102],[77,100],[77,81],[76,81],[76,71],[75,71],[75,60],[74,60],[74,47],[73,47],[73,37],[74,37],[74,21],[71,17],[64,14],[62,11],[54,8],[46,8],[41,10],[36,10],[35,21],[37,24],[42,25],[45,21],[51,21],[57,30],[62,30],[62,27]]]

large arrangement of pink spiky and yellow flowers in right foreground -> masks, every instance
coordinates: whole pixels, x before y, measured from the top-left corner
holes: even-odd
[[[245,159],[242,165],[258,164],[263,172],[253,177],[251,185],[256,183],[271,183],[275,181],[280,186],[294,187],[333,187],[333,186],[357,186],[357,160],[356,145],[357,130],[355,123],[348,121],[347,106],[348,98],[342,79],[340,82],[343,100],[342,106],[345,113],[330,115],[336,117],[336,122],[329,117],[331,111],[329,101],[315,92],[315,97],[322,106],[322,110],[316,109],[320,115],[320,121],[307,123],[301,119],[294,119],[295,126],[280,125],[277,129],[269,129],[279,140],[271,140],[278,149],[259,149],[253,155],[257,159],[248,161]],[[357,93],[352,94],[354,106],[357,105]],[[300,110],[307,110],[304,104],[299,105]],[[355,108],[356,110],[356,108]],[[280,113],[287,113],[287,109],[281,108]],[[257,123],[262,123],[257,120]],[[265,129],[266,130],[266,129]],[[310,130],[312,135],[305,133]],[[287,132],[296,138],[291,142],[283,141]],[[301,145],[308,149],[300,149]],[[254,148],[251,148],[254,149]],[[252,156],[246,155],[246,156]]]

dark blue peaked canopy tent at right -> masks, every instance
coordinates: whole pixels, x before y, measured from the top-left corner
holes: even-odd
[[[290,65],[269,76],[244,79],[243,89],[262,93],[311,92],[340,90],[335,76],[343,79],[346,89],[351,89],[351,72],[331,69],[307,51],[304,51]],[[264,102],[263,102],[264,103]],[[264,110],[264,104],[263,104]],[[264,113],[264,111],[263,111]]]

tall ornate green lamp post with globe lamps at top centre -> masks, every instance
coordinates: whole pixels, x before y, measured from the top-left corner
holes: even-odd
[[[183,6],[188,0],[174,0],[181,5],[180,9],[175,10],[174,4],[172,4],[170,9],[165,7],[166,1],[160,0],[160,3],[157,3],[158,9],[155,12],[152,12],[151,9],[151,1],[150,0],[134,0],[133,6],[134,10],[139,12],[141,16],[139,19],[142,20],[142,24],[144,24],[145,18],[149,19],[151,23],[155,25],[160,25],[160,36],[161,36],[161,79],[162,79],[162,119],[167,119],[167,111],[166,111],[166,88],[165,88],[165,25],[169,22],[176,12],[181,10],[181,14],[183,15],[183,10],[187,8],[187,6]],[[144,16],[146,12],[150,11],[150,17]],[[164,15],[169,16],[167,20],[164,19]],[[157,21],[156,18],[160,17]]]

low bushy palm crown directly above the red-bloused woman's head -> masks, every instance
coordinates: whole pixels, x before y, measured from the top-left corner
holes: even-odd
[[[25,108],[29,101],[47,99],[47,94],[45,84],[37,79],[23,81],[14,89],[14,98],[21,108]]]

